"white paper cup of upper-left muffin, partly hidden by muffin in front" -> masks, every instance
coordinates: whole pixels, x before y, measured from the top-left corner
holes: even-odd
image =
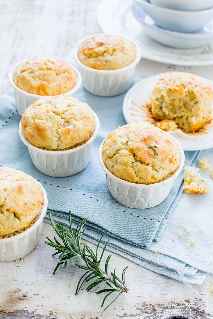
[[[18,67],[19,64],[21,64],[25,61],[28,61],[28,59],[23,60],[23,61],[15,64],[9,72],[9,82],[12,85],[12,87],[14,88],[14,92],[15,92],[16,108],[17,108],[19,115],[21,115],[21,116],[24,113],[24,111],[26,110],[26,108],[28,108],[28,106],[30,106],[36,100],[45,96],[45,95],[36,95],[36,94],[31,94],[31,93],[25,92],[25,91],[21,90],[18,86],[16,86],[15,83],[13,82],[13,74],[14,74],[16,68]],[[75,72],[75,85],[70,91],[63,93],[63,94],[59,94],[59,95],[68,95],[68,96],[74,97],[76,91],[80,88],[80,86],[82,84],[82,78],[81,78],[80,72],[74,66],[71,65],[71,67]]]

